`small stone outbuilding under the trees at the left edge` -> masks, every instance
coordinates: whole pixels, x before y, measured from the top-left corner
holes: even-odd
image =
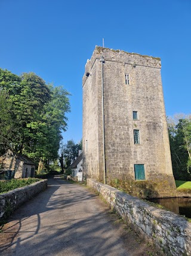
[[[35,162],[25,155],[14,153],[10,149],[0,156],[0,173],[8,172],[14,178],[27,178],[35,176]]]

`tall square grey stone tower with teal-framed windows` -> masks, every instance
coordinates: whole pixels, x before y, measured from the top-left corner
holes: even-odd
[[[96,46],[82,86],[84,176],[175,196],[161,59]]]

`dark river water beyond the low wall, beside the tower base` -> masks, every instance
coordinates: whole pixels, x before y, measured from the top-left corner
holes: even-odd
[[[152,198],[149,201],[161,204],[171,212],[191,218],[191,198]]]

